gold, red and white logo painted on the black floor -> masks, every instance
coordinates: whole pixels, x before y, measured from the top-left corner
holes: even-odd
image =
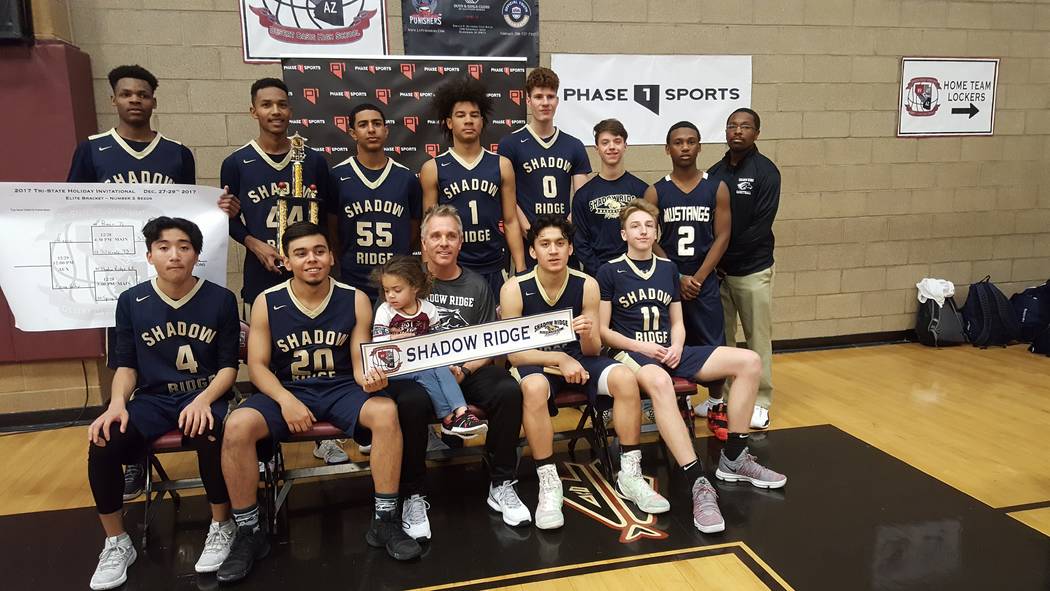
[[[563,462],[566,472],[562,477],[565,502],[573,509],[620,531],[621,544],[638,540],[666,540],[668,533],[655,527],[656,518],[633,507],[616,493],[615,487],[602,476],[598,461],[590,464]],[[644,477],[656,489],[656,480]]]

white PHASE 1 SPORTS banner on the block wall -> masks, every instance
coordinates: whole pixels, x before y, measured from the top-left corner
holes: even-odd
[[[593,144],[594,124],[615,118],[629,144],[663,146],[679,121],[705,144],[726,142],[726,120],[751,106],[751,56],[606,56],[554,54],[562,81],[558,127]]]

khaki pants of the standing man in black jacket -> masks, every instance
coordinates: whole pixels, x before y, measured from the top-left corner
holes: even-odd
[[[755,403],[764,408],[773,404],[773,275],[774,268],[733,277],[721,282],[722,314],[726,317],[726,342],[736,344],[736,315],[740,315],[748,349],[762,358],[762,379]],[[729,394],[727,382],[724,394]]]

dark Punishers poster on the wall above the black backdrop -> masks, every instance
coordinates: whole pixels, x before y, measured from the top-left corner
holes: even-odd
[[[513,56],[540,65],[539,0],[401,0],[410,56]]]

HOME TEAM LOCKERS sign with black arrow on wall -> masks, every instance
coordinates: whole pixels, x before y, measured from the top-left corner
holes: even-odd
[[[904,58],[898,135],[991,135],[999,60]]]

